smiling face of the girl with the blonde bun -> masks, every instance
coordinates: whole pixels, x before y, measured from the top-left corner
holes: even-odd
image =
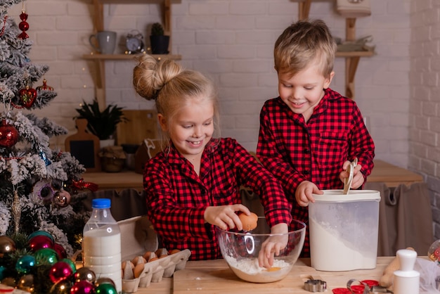
[[[159,115],[162,130],[169,136],[181,155],[192,161],[201,158],[214,133],[214,105],[207,98],[190,98],[171,122]]]

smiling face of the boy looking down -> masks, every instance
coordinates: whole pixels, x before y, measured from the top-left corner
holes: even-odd
[[[284,103],[297,114],[302,114],[307,122],[332,82],[335,72],[324,77],[318,59],[313,60],[304,70],[295,75],[278,72],[278,93]]]

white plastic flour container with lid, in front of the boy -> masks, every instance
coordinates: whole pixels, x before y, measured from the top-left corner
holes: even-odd
[[[311,267],[318,271],[374,269],[379,191],[324,190],[309,204]]]

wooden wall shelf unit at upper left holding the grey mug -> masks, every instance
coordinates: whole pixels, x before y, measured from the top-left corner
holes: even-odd
[[[93,30],[94,32],[99,32],[105,30],[104,27],[104,14],[103,6],[104,4],[158,4],[161,6],[162,11],[162,25],[164,26],[165,34],[169,35],[169,48],[172,48],[172,4],[180,3],[181,0],[93,0]],[[171,51],[170,51],[171,52]],[[168,58],[174,60],[181,60],[179,54],[163,54],[157,55],[152,54],[158,60]],[[100,54],[100,53],[90,53],[84,54],[82,58],[86,60],[92,60],[94,62],[96,70],[96,80],[95,80],[95,95],[98,101],[99,107],[104,109],[106,107],[105,103],[105,61],[106,60],[131,60],[135,56],[129,54]]]

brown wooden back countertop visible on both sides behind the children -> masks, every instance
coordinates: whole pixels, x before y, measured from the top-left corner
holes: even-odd
[[[98,184],[101,190],[123,190],[134,188],[141,191],[143,188],[142,174],[133,171],[123,172],[86,172],[84,181]],[[420,174],[411,172],[402,167],[396,167],[383,160],[375,160],[373,172],[368,177],[369,182],[384,182],[389,188],[396,188],[399,184],[413,184],[423,181]]]

